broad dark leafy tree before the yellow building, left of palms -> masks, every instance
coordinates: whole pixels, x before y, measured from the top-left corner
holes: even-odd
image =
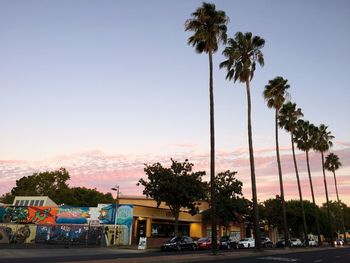
[[[141,178],[137,185],[144,186],[143,194],[153,198],[159,207],[164,202],[175,218],[175,235],[178,235],[181,208],[187,208],[194,215],[198,212],[197,201],[206,197],[206,183],[202,182],[205,172],[192,172],[193,164],[185,160],[179,163],[171,159],[170,168],[160,163],[146,165],[148,179]]]

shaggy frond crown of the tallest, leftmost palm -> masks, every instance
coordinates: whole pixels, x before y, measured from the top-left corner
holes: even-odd
[[[185,31],[194,31],[194,34],[187,43],[195,47],[198,53],[215,52],[218,42],[226,43],[229,18],[224,11],[216,10],[214,4],[203,3],[191,16],[185,22]]]

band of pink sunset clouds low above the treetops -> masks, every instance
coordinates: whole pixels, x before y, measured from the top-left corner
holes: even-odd
[[[244,183],[243,191],[247,198],[251,197],[250,163],[247,149],[237,151],[220,151],[216,156],[216,172],[231,170],[238,171],[237,178]],[[337,171],[340,198],[350,204],[350,148],[334,151],[343,163]],[[277,173],[277,162],[274,148],[255,150],[255,166],[259,200],[273,198],[280,193]],[[264,155],[271,153],[270,155]],[[298,198],[295,171],[290,148],[281,151],[281,163],[285,185],[286,199]],[[65,167],[70,175],[71,186],[97,188],[99,191],[111,192],[111,187],[118,184],[123,194],[142,194],[142,187],[136,183],[145,177],[144,164],[160,162],[170,164],[170,158],[178,161],[186,158],[194,163],[195,170],[205,170],[205,180],[209,180],[209,153],[178,153],[175,155],[123,155],[105,154],[101,151],[89,151],[80,154],[59,156],[52,160],[28,163],[25,161],[0,161],[0,194],[8,192],[15,186],[16,180],[29,176],[34,172],[54,170]],[[311,200],[310,186],[306,170],[305,154],[296,155],[305,199]],[[318,202],[324,202],[324,185],[319,153],[310,153],[311,172],[315,195]],[[333,175],[327,172],[327,183],[331,199],[335,199]]]

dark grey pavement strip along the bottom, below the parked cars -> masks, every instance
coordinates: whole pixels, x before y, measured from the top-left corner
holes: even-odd
[[[242,249],[232,251],[218,251],[212,255],[211,251],[198,252],[159,252],[159,249],[137,250],[135,247],[108,248],[1,248],[0,262],[75,262],[75,263],[182,263],[229,260],[247,257],[266,257],[271,255],[286,255],[289,253],[316,252],[334,249],[322,248],[287,248],[287,249]],[[80,257],[81,255],[81,257]]]

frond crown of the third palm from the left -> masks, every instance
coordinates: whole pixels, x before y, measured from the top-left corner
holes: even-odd
[[[282,77],[276,77],[272,80],[269,80],[269,84],[265,86],[263,92],[264,99],[267,101],[267,107],[280,109],[289,97],[287,89],[289,89],[288,80],[283,79]]]

